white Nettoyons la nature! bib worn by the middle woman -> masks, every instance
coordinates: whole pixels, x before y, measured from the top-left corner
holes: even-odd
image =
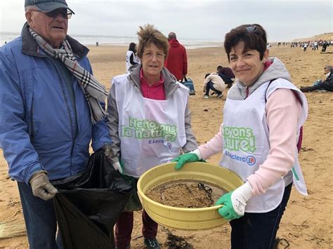
[[[112,82],[119,114],[120,153],[124,174],[140,177],[179,156],[185,145],[188,88],[179,84],[181,87],[168,100],[151,100],[143,97],[127,76],[117,76]]]

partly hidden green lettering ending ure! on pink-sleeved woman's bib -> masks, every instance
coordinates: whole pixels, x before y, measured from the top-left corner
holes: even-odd
[[[256,151],[256,137],[252,128],[223,126],[223,141],[224,147],[230,151]]]

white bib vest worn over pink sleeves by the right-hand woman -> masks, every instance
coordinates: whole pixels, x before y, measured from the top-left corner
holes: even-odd
[[[244,181],[266,161],[270,149],[265,94],[268,98],[278,88],[292,89],[297,93],[302,106],[301,119],[297,124],[297,140],[299,128],[306,121],[308,114],[305,95],[292,83],[285,79],[277,79],[272,81],[269,87],[268,84],[269,82],[263,83],[245,100],[227,98],[223,109],[223,156],[220,166],[232,170]],[[296,144],[294,154],[293,183],[301,194],[307,195]],[[281,203],[284,191],[285,181],[281,177],[275,184],[268,187],[264,194],[250,198],[245,212],[266,213],[274,210]]]

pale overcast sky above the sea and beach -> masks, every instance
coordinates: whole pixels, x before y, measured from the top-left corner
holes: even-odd
[[[20,32],[25,22],[23,0],[0,0],[0,32]],[[259,23],[268,41],[291,41],[332,32],[332,1],[205,0],[67,0],[75,15],[68,34],[136,36],[150,23],[178,39],[221,41],[245,23]]]

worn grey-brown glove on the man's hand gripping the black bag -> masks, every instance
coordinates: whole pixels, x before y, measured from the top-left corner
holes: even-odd
[[[53,185],[48,180],[46,171],[39,170],[32,175],[29,181],[32,194],[34,196],[42,198],[44,201],[47,201],[55,196],[58,193],[58,190],[53,187]]]

